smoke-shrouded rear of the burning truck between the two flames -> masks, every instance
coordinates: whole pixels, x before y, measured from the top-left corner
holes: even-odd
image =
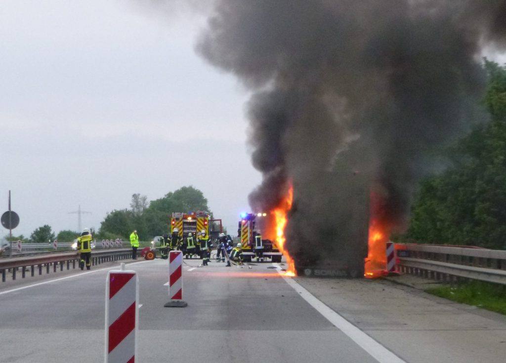
[[[359,169],[346,165],[335,169],[322,174],[311,190],[302,186],[304,193],[293,184],[285,234],[298,276],[364,277],[370,184]]]

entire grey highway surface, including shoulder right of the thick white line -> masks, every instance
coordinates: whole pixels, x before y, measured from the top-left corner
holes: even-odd
[[[434,351],[441,342],[438,345],[424,338],[432,334],[429,328],[410,335],[411,317],[405,317],[408,323],[399,323],[397,317],[395,322],[403,329],[378,329],[378,324],[386,324],[383,320],[390,312],[379,309],[382,322],[377,323],[378,315],[364,306],[367,299],[381,298],[385,291],[410,294],[387,282],[289,279],[279,273],[280,266],[271,263],[249,269],[214,261],[199,267],[200,262],[185,260],[183,265],[185,308],[163,307],[168,301],[167,260],[127,264],[128,269],[137,271],[140,284],[136,361],[476,361],[473,354],[484,354],[477,350],[463,355],[469,360],[462,360],[462,352],[452,352],[458,348],[453,341],[449,341],[448,351]],[[89,273],[79,270],[31,283],[23,281],[18,287],[0,287],[0,361],[104,361],[105,281],[110,269],[94,266]],[[376,290],[376,296],[364,295]],[[412,299],[426,299],[426,309],[440,303],[416,294]],[[451,311],[446,315],[438,319],[450,322],[455,317]],[[459,340],[493,341],[490,346],[481,341],[462,344],[462,349],[474,349],[473,344],[483,351],[494,348],[484,361],[504,361],[506,343],[500,341],[506,341],[506,321],[497,314],[472,316],[475,324],[490,326],[485,333],[491,335],[480,336],[473,330],[471,335],[460,334]],[[363,326],[371,319],[376,326]]]

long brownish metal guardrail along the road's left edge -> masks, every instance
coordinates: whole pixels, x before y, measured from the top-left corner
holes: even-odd
[[[141,251],[137,252],[139,256]],[[132,258],[132,249],[118,248],[110,250],[101,250],[92,252],[92,266],[99,265],[104,262],[118,261]],[[74,269],[79,265],[78,252],[63,252],[51,253],[46,255],[29,256],[29,257],[14,257],[5,258],[0,260],[0,273],[2,274],[2,282],[6,282],[7,274],[12,274],[12,280],[16,280],[17,271],[21,269],[21,277],[24,279],[26,273],[29,272],[30,276],[35,276],[35,269],[38,269],[38,275],[42,275],[43,269],[46,269],[46,274],[49,274],[51,266],[53,272],[57,272],[58,267],[63,271],[64,266],[69,270],[70,266]]]

